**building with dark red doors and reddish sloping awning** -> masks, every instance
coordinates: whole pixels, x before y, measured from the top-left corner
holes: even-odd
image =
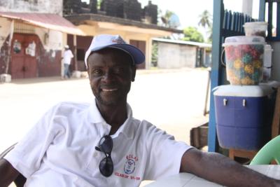
[[[67,33],[82,34],[62,18],[62,0],[1,1],[0,26],[0,74],[12,78],[59,76]]]

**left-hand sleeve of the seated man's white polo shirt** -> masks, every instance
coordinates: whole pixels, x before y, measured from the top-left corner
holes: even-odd
[[[45,113],[15,148],[4,157],[26,178],[40,167],[45,151],[59,132],[59,127],[54,127],[52,123],[58,106],[54,106]]]

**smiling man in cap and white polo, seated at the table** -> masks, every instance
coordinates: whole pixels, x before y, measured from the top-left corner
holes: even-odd
[[[26,186],[139,186],[142,180],[190,172],[225,186],[280,186],[218,153],[175,141],[132,117],[127,94],[144,62],[120,36],[94,37],[85,54],[92,104],[64,102],[48,111],[0,160],[0,183],[19,173]]]

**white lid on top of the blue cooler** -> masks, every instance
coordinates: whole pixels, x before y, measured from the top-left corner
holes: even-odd
[[[269,85],[220,85],[213,89],[216,96],[262,97],[273,92]]]

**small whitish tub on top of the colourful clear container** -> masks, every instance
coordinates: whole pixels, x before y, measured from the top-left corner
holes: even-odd
[[[243,27],[246,36],[266,36],[267,22],[246,22]]]

